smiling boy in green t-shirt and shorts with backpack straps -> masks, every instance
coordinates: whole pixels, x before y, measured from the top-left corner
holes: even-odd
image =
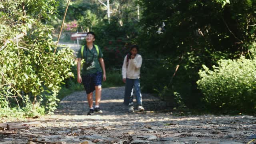
[[[86,45],[82,46],[78,51],[77,62],[77,82],[83,83],[86,90],[87,100],[89,104],[89,112],[87,115],[95,113],[102,113],[100,110],[101,99],[101,83],[102,75],[103,80],[106,80],[105,64],[103,60],[103,54],[97,45],[94,45],[95,34],[88,32],[86,36]],[[82,70],[82,76],[80,75],[81,60],[84,59],[84,65]],[[101,68],[100,68],[101,66]],[[103,74],[102,74],[103,71]],[[92,92],[95,90],[95,107],[93,108],[93,96]]]

